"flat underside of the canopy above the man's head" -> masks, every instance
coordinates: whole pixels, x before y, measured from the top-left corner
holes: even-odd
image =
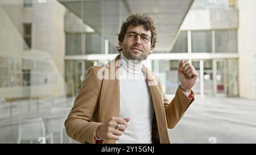
[[[193,0],[59,0],[113,45],[122,21],[130,14],[147,13],[155,19],[155,51],[170,51]]]

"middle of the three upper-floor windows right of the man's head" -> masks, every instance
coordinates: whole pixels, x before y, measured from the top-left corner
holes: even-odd
[[[191,31],[192,53],[212,52],[212,31]]]

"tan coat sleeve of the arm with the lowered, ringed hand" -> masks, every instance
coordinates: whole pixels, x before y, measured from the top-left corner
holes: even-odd
[[[94,132],[102,123],[91,120],[97,109],[98,95],[97,73],[92,67],[89,68],[73,108],[64,123],[67,135],[80,143],[96,143]]]

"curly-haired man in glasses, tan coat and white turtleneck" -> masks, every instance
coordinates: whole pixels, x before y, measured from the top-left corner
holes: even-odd
[[[199,74],[181,60],[180,86],[170,103],[159,78],[143,65],[156,39],[147,14],[130,15],[122,23],[121,55],[88,70],[65,121],[68,136],[80,143],[170,143],[168,128],[174,128],[193,102],[191,89]]]

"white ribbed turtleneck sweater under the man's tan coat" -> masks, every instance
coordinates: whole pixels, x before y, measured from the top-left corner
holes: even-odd
[[[130,118],[130,121],[117,143],[152,143],[154,108],[148,83],[142,72],[143,62],[129,62],[122,52],[120,59],[120,118]]]

